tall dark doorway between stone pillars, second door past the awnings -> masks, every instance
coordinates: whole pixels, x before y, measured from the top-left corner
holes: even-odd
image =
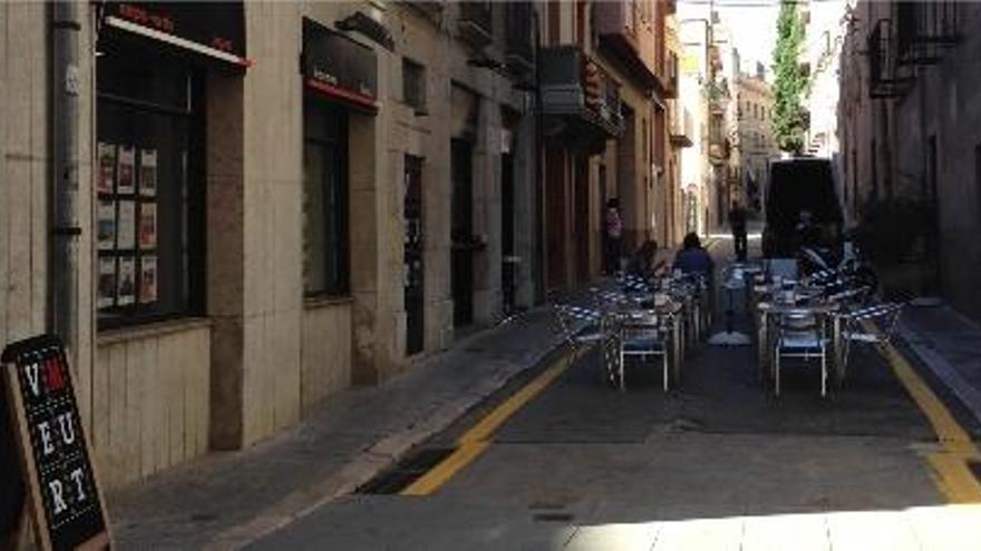
[[[462,327],[474,321],[474,174],[473,150],[468,141],[453,140],[450,177],[453,206],[450,213],[450,276],[453,325]]]

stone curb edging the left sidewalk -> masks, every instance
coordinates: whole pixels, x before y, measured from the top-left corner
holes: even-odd
[[[246,523],[218,533],[212,538],[205,549],[244,548],[308,516],[328,503],[354,492],[386,469],[397,464],[417,445],[451,426],[464,414],[479,406],[512,381],[542,365],[562,345],[561,340],[554,340],[547,348],[535,354],[526,365],[517,367],[505,376],[482,382],[476,391],[438,406],[427,417],[407,425],[401,431],[383,436],[360,452],[340,471],[314,484],[291,492]]]

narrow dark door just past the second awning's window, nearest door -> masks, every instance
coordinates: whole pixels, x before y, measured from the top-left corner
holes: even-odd
[[[422,258],[422,159],[406,156],[405,235],[406,354],[421,352],[425,335]]]

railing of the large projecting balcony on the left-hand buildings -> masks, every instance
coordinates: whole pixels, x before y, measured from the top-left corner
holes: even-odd
[[[543,49],[540,71],[545,115],[587,122],[606,136],[622,132],[620,88],[579,46]]]

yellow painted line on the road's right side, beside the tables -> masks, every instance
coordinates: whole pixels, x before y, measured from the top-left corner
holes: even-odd
[[[871,331],[868,322],[865,322],[865,328]],[[981,460],[981,451],[968,431],[895,347],[886,345],[880,352],[936,434],[941,450],[926,457],[933,469],[934,483],[951,503],[981,502],[981,484],[968,468],[968,461]]]

